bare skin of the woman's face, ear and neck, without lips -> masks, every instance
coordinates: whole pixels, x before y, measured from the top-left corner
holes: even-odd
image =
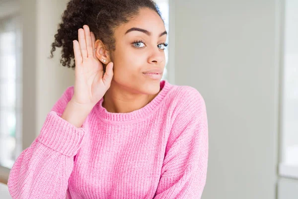
[[[148,30],[150,35],[136,30],[125,34],[133,27]],[[165,31],[164,23],[155,11],[141,8],[137,16],[115,29],[115,51],[110,52],[100,40],[95,41],[96,57],[100,61],[106,60],[104,64],[114,63],[114,76],[102,104],[108,112],[132,112],[158,95],[160,80],[153,80],[143,72],[153,68],[164,70],[165,53],[162,49],[165,47],[162,43],[165,43],[167,35],[160,34]],[[136,40],[142,42],[134,43]]]

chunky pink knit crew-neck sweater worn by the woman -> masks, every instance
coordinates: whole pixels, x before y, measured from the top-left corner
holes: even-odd
[[[190,86],[160,81],[161,92],[129,113],[108,112],[103,98],[83,125],[61,118],[69,87],[38,137],[14,163],[13,199],[200,199],[206,183],[208,122]]]

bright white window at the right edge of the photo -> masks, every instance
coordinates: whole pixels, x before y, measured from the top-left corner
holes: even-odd
[[[279,173],[298,178],[298,1],[285,1],[281,163]]]

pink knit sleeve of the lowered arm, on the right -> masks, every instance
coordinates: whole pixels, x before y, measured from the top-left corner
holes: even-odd
[[[153,199],[200,199],[208,165],[208,121],[204,99],[191,88],[181,97]]]

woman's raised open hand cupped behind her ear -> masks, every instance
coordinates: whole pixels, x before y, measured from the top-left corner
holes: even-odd
[[[72,102],[93,108],[110,88],[113,62],[103,65],[95,55],[95,37],[87,25],[78,29],[78,42],[74,42],[75,82]]]

